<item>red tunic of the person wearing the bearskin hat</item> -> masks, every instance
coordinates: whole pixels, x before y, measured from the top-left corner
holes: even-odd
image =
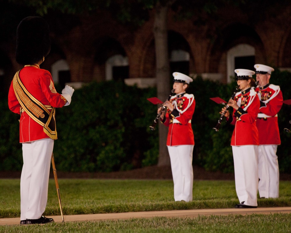
[[[54,88],[52,75],[39,66],[25,66],[19,71],[19,78],[29,93],[51,111],[51,107],[63,107],[67,100]],[[20,104],[16,98],[13,83],[8,93],[9,109],[17,114]],[[19,125],[19,142],[32,142],[49,136],[43,131],[43,126],[34,121],[26,112],[22,112]]]

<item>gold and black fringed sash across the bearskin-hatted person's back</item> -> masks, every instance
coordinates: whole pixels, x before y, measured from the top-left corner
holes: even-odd
[[[55,107],[49,111],[45,105],[34,98],[24,87],[20,78],[19,71],[13,77],[13,89],[18,102],[24,111],[38,124],[43,126],[43,131],[51,139],[58,139],[56,133]]]

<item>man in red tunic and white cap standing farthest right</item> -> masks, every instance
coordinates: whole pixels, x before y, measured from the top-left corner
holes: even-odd
[[[257,118],[259,130],[259,195],[265,198],[279,197],[279,165],[276,155],[277,146],[281,144],[278,127],[278,112],[283,104],[279,86],[269,83],[270,66],[255,64],[258,86],[255,91],[260,99],[260,112]]]

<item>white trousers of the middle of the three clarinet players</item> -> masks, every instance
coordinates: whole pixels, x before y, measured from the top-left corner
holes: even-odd
[[[232,146],[235,167],[235,190],[239,202],[258,206],[258,146]]]

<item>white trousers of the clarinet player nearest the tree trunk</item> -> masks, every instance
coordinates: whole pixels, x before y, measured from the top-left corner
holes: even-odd
[[[175,201],[193,200],[193,148],[194,145],[168,146]]]

